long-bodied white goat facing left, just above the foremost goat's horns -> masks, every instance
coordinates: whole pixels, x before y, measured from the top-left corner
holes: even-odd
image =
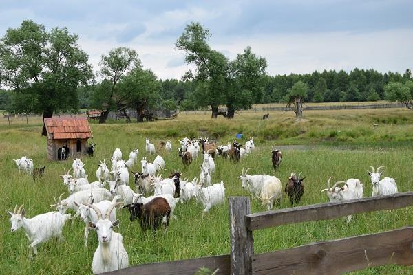
[[[87,200],[91,196],[94,198],[94,201],[96,203],[100,201],[104,201],[105,199],[108,199],[108,200],[113,199],[112,194],[109,192],[109,190],[105,188],[94,188],[94,189],[89,189],[89,190],[82,190],[82,191],[73,193],[66,199],[61,199],[64,194],[65,193],[61,194],[57,201],[56,201],[56,198],[53,197],[55,204],[50,205],[50,207],[56,208],[56,210],[58,210],[59,213],[61,214],[65,214],[67,209],[76,210],[76,204],[74,204],[74,201],[76,201],[77,203],[87,203]]]

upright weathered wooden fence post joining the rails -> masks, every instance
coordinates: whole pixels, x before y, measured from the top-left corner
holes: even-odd
[[[246,228],[245,215],[250,214],[248,197],[229,198],[229,234],[231,235],[231,275],[252,274],[253,232]]]

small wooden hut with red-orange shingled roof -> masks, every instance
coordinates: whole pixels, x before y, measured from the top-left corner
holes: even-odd
[[[45,118],[44,122],[47,159],[65,160],[87,154],[87,139],[93,138],[87,118]]]

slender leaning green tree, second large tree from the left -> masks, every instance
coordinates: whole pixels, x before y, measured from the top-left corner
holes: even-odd
[[[99,123],[105,123],[110,111],[122,109],[122,96],[118,95],[118,83],[132,69],[141,68],[138,54],[126,47],[117,47],[108,55],[100,56],[98,76],[102,82],[94,89],[91,98],[92,106],[101,110]]]

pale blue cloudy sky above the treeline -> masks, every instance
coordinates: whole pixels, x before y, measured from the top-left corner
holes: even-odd
[[[181,78],[192,66],[175,43],[192,21],[208,28],[211,48],[231,60],[251,46],[266,58],[269,75],[413,67],[411,0],[1,0],[0,6],[0,36],[27,19],[47,30],[67,27],[95,70],[102,54],[129,47],[158,78]]]

